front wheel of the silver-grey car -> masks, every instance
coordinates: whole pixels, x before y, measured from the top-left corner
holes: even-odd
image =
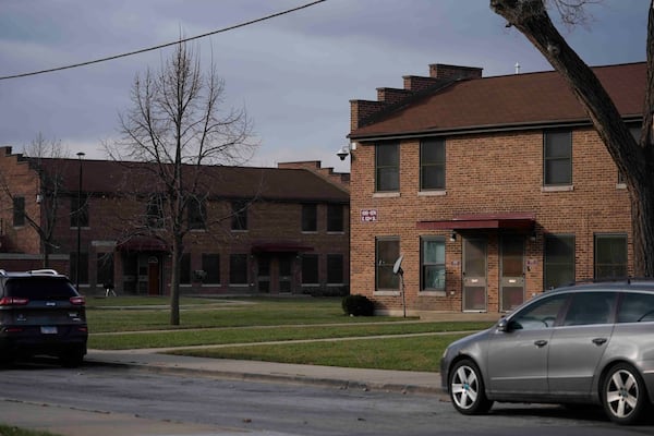
[[[455,409],[467,415],[484,414],[493,407],[493,401],[486,397],[480,368],[468,359],[452,367],[449,392]]]

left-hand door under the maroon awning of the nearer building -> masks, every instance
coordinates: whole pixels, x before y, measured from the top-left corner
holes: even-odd
[[[464,312],[486,312],[486,249],[484,239],[463,240]]]

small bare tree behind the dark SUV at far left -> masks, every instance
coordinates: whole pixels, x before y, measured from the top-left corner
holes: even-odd
[[[49,141],[40,132],[36,138],[23,147],[23,155],[28,158],[29,168],[38,173],[38,192],[36,193],[38,206],[34,214],[31,214],[25,205],[23,205],[22,211],[14,210],[14,213],[22,213],[22,218],[38,234],[44,256],[44,267],[49,267],[50,252],[59,247],[53,240],[55,228],[61,215],[61,198],[65,194],[62,178],[63,168],[46,169],[44,161],[52,158],[65,158],[68,154],[68,149],[61,145],[60,141]],[[15,185],[5,180],[4,174],[0,174],[0,185],[11,199],[12,207],[16,207],[16,201],[23,194],[13,191]]]

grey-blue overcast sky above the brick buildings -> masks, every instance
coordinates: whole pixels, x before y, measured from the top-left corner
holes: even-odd
[[[172,43],[311,0],[2,0],[0,76],[90,61]],[[550,65],[489,9],[489,0],[327,0],[192,43],[225,80],[225,108],[244,107],[261,147],[253,166],[320,160],[349,171],[351,99],[376,99],[428,64],[484,69],[484,76]],[[592,4],[588,26],[560,28],[591,65],[645,60],[650,0]],[[39,132],[74,156],[105,158],[137,73],[172,48],[53,73],[0,81],[0,145],[21,152]]]

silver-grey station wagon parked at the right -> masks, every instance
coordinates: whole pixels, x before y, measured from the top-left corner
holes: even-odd
[[[585,403],[637,423],[654,403],[654,281],[547,291],[451,343],[440,375],[463,414],[494,401]]]

